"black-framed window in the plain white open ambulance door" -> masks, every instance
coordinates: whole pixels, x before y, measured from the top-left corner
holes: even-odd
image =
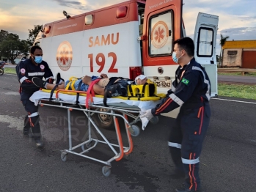
[[[213,56],[213,29],[201,27],[198,34],[197,56]]]

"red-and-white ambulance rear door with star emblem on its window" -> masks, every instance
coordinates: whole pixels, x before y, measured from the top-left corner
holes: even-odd
[[[175,80],[178,64],[172,60],[173,42],[183,37],[180,0],[147,0],[143,29],[143,70],[166,93]]]

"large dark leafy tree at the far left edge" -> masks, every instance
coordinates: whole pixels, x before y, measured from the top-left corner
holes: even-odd
[[[20,40],[18,34],[8,33],[1,40],[0,52],[2,56],[10,59],[12,64],[15,64],[15,59],[21,54],[27,55],[29,45],[26,40]]]

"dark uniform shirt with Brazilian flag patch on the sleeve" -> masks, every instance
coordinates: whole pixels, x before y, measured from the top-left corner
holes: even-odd
[[[198,108],[208,103],[211,97],[211,84],[205,69],[191,59],[183,68],[180,66],[175,73],[175,81],[167,97],[153,108],[151,113],[156,116],[167,113],[181,106],[183,108]]]

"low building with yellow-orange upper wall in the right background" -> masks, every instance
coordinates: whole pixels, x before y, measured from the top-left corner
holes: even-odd
[[[256,68],[256,40],[227,41],[223,46],[223,67]]]

